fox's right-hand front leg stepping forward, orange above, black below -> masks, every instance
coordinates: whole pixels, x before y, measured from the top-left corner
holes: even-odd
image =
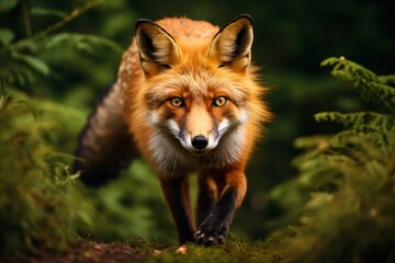
[[[195,233],[195,241],[200,244],[225,243],[235,210],[246,195],[247,183],[242,171],[230,171],[221,178],[225,182],[218,185],[218,190],[223,190],[219,199]]]

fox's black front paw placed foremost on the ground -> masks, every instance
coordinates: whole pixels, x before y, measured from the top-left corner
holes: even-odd
[[[223,244],[226,241],[229,224],[218,220],[210,215],[200,226],[195,233],[195,241],[199,244],[213,245]]]

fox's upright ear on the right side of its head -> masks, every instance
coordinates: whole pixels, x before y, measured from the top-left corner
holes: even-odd
[[[248,14],[241,14],[214,36],[208,57],[217,59],[219,67],[244,71],[251,60],[252,39],[252,19]]]

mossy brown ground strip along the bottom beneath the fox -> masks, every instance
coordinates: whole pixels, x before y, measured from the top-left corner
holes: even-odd
[[[287,253],[271,248],[270,242],[247,243],[232,240],[222,247],[187,244],[183,249],[137,238],[127,242],[80,240],[63,251],[42,250],[24,258],[0,258],[2,263],[126,263],[126,262],[287,262]]]

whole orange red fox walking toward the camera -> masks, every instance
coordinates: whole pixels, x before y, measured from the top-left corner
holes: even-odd
[[[81,134],[81,179],[97,185],[138,150],[160,180],[181,243],[226,241],[246,163],[270,112],[250,65],[252,20],[138,20],[117,81]],[[198,173],[194,222],[188,175]]]

